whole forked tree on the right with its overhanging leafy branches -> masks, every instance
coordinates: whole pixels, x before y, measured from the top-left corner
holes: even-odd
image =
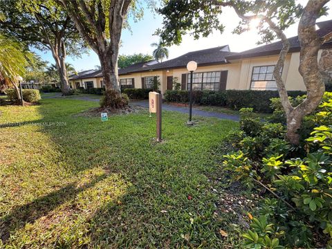
[[[326,3],[329,0],[309,0],[306,6],[297,5],[295,0],[192,0],[167,1],[165,6],[158,10],[164,15],[163,29],[157,31],[165,44],[179,44],[182,36],[188,30],[198,38],[200,35],[207,37],[213,30],[223,32],[224,26],[220,23],[220,15],[224,8],[234,8],[241,22],[236,33],[242,33],[248,28],[252,19],[259,19],[259,34],[261,42],[270,42],[277,37],[282,41],[282,50],[273,72],[282,106],[286,113],[287,138],[293,144],[299,143],[297,130],[302,124],[304,116],[314,111],[322,100],[324,82],[320,74],[317,57],[322,44],[332,38],[332,33],[319,37],[315,30],[318,17],[326,12]],[[196,13],[200,15],[196,15]],[[299,19],[298,35],[301,51],[299,55],[299,73],[302,75],[306,86],[307,97],[297,107],[293,107],[288,99],[286,86],[279,73],[284,66],[290,44],[284,30]]]

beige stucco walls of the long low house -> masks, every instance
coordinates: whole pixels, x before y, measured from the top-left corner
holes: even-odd
[[[319,52],[319,57],[322,50]],[[228,71],[226,89],[245,90],[250,89],[252,68],[254,66],[270,66],[277,63],[278,55],[255,57],[241,60],[231,61],[230,64],[219,64],[214,66],[198,66],[195,73],[211,72],[211,71]],[[299,53],[291,53],[287,55],[284,68],[282,70],[282,79],[285,82],[287,90],[302,90],[305,91],[304,82],[298,71],[299,67]],[[188,73],[187,68],[176,68],[160,71],[149,71],[142,73],[131,73],[127,75],[120,75],[120,79],[134,78],[135,88],[142,88],[142,77],[159,76],[160,91],[165,93],[167,89],[167,76],[178,77],[178,82],[181,83],[183,73]],[[84,82],[93,81],[94,87],[101,87],[101,77],[89,78],[83,80],[71,81],[73,89],[75,89],[75,82],[80,82],[80,86],[84,87]]]

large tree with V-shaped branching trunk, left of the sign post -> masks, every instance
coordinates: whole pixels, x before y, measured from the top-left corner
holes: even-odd
[[[59,0],[73,19],[77,30],[97,53],[106,89],[120,94],[118,55],[122,27],[131,0]],[[112,98],[107,94],[106,98]],[[110,101],[106,101],[110,103]]]

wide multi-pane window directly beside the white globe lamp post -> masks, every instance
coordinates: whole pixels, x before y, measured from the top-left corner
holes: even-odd
[[[192,74],[192,90],[219,91],[221,72]],[[187,75],[187,89],[190,89],[190,73]]]

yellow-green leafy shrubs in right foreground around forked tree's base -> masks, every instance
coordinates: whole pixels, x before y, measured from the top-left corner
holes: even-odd
[[[296,105],[304,98],[291,102]],[[278,99],[272,103],[282,111]],[[332,248],[332,93],[324,93],[322,104],[304,119],[306,139],[299,147],[285,140],[284,123],[259,126],[252,109],[240,113],[241,131],[226,138],[234,138],[230,151],[239,151],[224,156],[223,166],[232,181],[252,189],[264,186],[267,197],[277,198],[265,196],[264,203],[259,202],[259,218],[252,219],[243,234],[243,247]]]

